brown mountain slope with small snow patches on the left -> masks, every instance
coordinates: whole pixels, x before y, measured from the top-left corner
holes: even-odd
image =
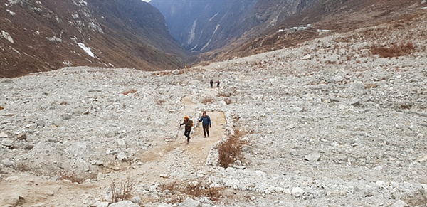
[[[0,1],[0,77],[90,65],[164,70],[186,53],[144,1]]]

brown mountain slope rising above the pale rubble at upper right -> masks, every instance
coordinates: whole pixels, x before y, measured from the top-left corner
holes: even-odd
[[[202,54],[199,60],[223,60],[244,57],[280,48],[334,33],[354,31],[411,18],[413,9],[427,6],[426,1],[386,0],[322,0],[288,16],[274,27],[248,31],[237,41],[215,51]],[[290,31],[289,28],[311,24],[311,28]],[[287,30],[288,29],[288,30]],[[282,32],[280,32],[282,31]],[[324,31],[331,31],[325,33]]]

